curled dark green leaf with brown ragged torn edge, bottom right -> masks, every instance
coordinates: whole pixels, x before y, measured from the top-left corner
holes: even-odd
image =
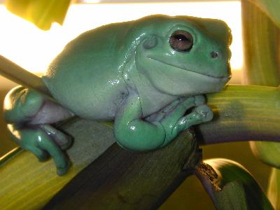
[[[218,210],[273,209],[253,176],[237,162],[216,158],[205,160],[204,165],[208,172],[198,167],[196,175]]]

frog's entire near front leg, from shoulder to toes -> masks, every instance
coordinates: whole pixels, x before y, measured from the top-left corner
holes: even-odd
[[[136,151],[165,146],[182,130],[211,120],[213,116],[211,109],[201,104],[204,104],[201,96],[178,100],[167,106],[157,120],[148,122],[142,119],[139,96],[136,93],[130,94],[116,115],[114,127],[116,139],[124,148]],[[193,106],[197,106],[197,109],[182,118],[186,110]],[[209,112],[202,114],[202,111],[206,111],[205,107]]]

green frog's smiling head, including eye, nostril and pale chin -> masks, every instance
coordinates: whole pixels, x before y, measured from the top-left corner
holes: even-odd
[[[160,92],[178,96],[219,92],[230,79],[230,29],[221,20],[150,16],[136,66]],[[148,25],[148,27],[147,27]]]

